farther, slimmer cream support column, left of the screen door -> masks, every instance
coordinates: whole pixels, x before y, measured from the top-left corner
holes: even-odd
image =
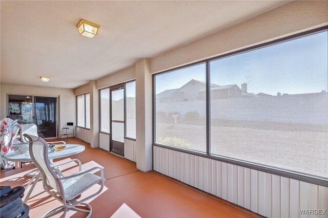
[[[90,81],[90,146],[99,147],[99,92],[96,80]]]

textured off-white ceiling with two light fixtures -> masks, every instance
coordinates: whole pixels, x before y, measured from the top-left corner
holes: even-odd
[[[1,82],[76,88],[286,3],[1,1]],[[79,36],[81,18],[96,37]]]

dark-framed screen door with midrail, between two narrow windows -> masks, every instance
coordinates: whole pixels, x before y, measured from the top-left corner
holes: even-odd
[[[111,150],[124,155],[124,86],[111,90]]]

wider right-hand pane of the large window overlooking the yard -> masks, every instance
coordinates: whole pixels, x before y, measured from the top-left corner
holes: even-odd
[[[211,153],[328,177],[327,32],[210,61]]]

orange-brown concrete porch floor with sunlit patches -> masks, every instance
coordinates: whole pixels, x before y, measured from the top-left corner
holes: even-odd
[[[110,217],[123,203],[142,217],[258,217],[252,212],[157,172],[142,172],[136,168],[135,163],[99,148],[90,148],[88,143],[81,140],[69,139],[68,143],[83,144],[86,149],[80,154],[54,160],[55,162],[79,159],[83,164],[83,170],[93,166],[104,167],[105,188],[100,195],[87,201],[93,209],[92,217]],[[75,166],[72,163],[60,169],[64,175],[69,175],[77,171]],[[23,168],[1,171],[1,185],[26,186],[30,180],[26,173],[33,168],[35,165],[25,164]],[[98,188],[98,185],[93,186],[82,195],[82,198],[88,193],[97,191]],[[37,183],[27,204],[30,207],[31,218],[40,217],[60,205],[43,190],[41,180]],[[75,211],[69,211],[67,215],[67,217],[85,216],[86,213]]]

